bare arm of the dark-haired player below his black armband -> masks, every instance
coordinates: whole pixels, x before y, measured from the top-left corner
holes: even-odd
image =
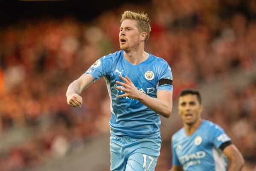
[[[244,158],[235,145],[231,144],[224,148],[223,153],[230,160],[228,171],[241,171],[244,165]]]

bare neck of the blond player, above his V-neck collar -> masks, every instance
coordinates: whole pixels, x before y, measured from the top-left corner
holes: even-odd
[[[149,57],[149,54],[145,52],[144,49],[131,50],[131,51],[124,51],[124,57],[131,64],[137,65],[147,60]]]

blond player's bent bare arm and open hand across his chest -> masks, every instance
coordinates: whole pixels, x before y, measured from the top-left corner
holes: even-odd
[[[172,113],[172,91],[157,91],[157,98],[153,98],[137,90],[133,82],[127,76],[124,78],[119,75],[119,77],[124,81],[124,83],[120,81],[116,81],[116,83],[125,88],[117,87],[117,89],[122,90],[125,93],[119,95],[118,97],[127,96],[131,99],[137,99],[151,110],[154,110],[156,113],[159,113],[166,118],[170,117]]]

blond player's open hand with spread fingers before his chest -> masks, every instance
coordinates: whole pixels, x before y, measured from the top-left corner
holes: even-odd
[[[142,92],[140,92],[133,84],[133,82],[130,80],[130,78],[128,78],[128,76],[122,77],[122,75],[119,75],[119,78],[122,79],[122,81],[124,82],[120,82],[120,81],[116,81],[116,84],[119,84],[121,86],[118,86],[117,89],[118,90],[122,90],[123,92],[125,92],[122,95],[119,95],[118,97],[129,97],[131,99],[138,99],[140,94]]]

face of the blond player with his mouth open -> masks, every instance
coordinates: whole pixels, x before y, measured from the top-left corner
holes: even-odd
[[[140,43],[140,32],[136,20],[126,19],[122,22],[119,32],[119,45],[121,50],[136,49]]]

